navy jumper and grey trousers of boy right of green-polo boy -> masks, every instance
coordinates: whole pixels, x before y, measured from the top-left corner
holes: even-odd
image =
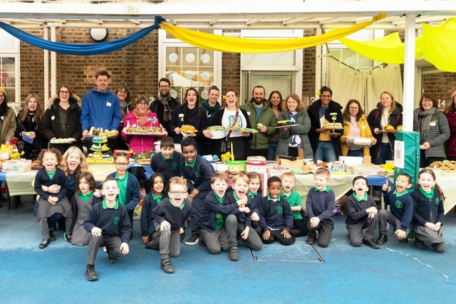
[[[323,191],[316,187],[309,190],[306,199],[306,212],[309,216],[307,229],[309,238],[316,236],[318,231],[318,246],[327,247],[331,241],[331,233],[334,229],[333,210],[336,196],[331,188],[326,187]],[[318,217],[318,226],[312,227],[310,219]]]

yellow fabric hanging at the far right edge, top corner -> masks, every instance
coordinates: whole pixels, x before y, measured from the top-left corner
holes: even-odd
[[[439,70],[456,73],[456,19],[439,26],[423,24],[423,57]]]

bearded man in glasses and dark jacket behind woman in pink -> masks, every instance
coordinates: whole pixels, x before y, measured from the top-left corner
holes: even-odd
[[[171,82],[167,78],[161,78],[158,81],[158,92],[160,96],[150,103],[149,108],[152,112],[157,113],[158,121],[162,123],[168,134],[172,134],[172,130],[169,129],[171,122],[172,112],[175,108],[180,106],[180,103],[172,98],[170,95]]]

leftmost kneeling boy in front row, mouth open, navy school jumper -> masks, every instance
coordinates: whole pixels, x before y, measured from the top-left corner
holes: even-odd
[[[101,192],[105,199],[92,206],[83,223],[84,229],[90,232],[86,267],[88,281],[98,280],[95,258],[100,246],[108,248],[109,263],[115,263],[118,256],[125,256],[130,252],[130,219],[126,207],[116,199],[119,187],[114,177],[106,177]]]

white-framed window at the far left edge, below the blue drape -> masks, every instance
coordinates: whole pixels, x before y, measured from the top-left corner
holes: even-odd
[[[5,89],[9,103],[19,108],[19,40],[0,30],[0,86]]]

